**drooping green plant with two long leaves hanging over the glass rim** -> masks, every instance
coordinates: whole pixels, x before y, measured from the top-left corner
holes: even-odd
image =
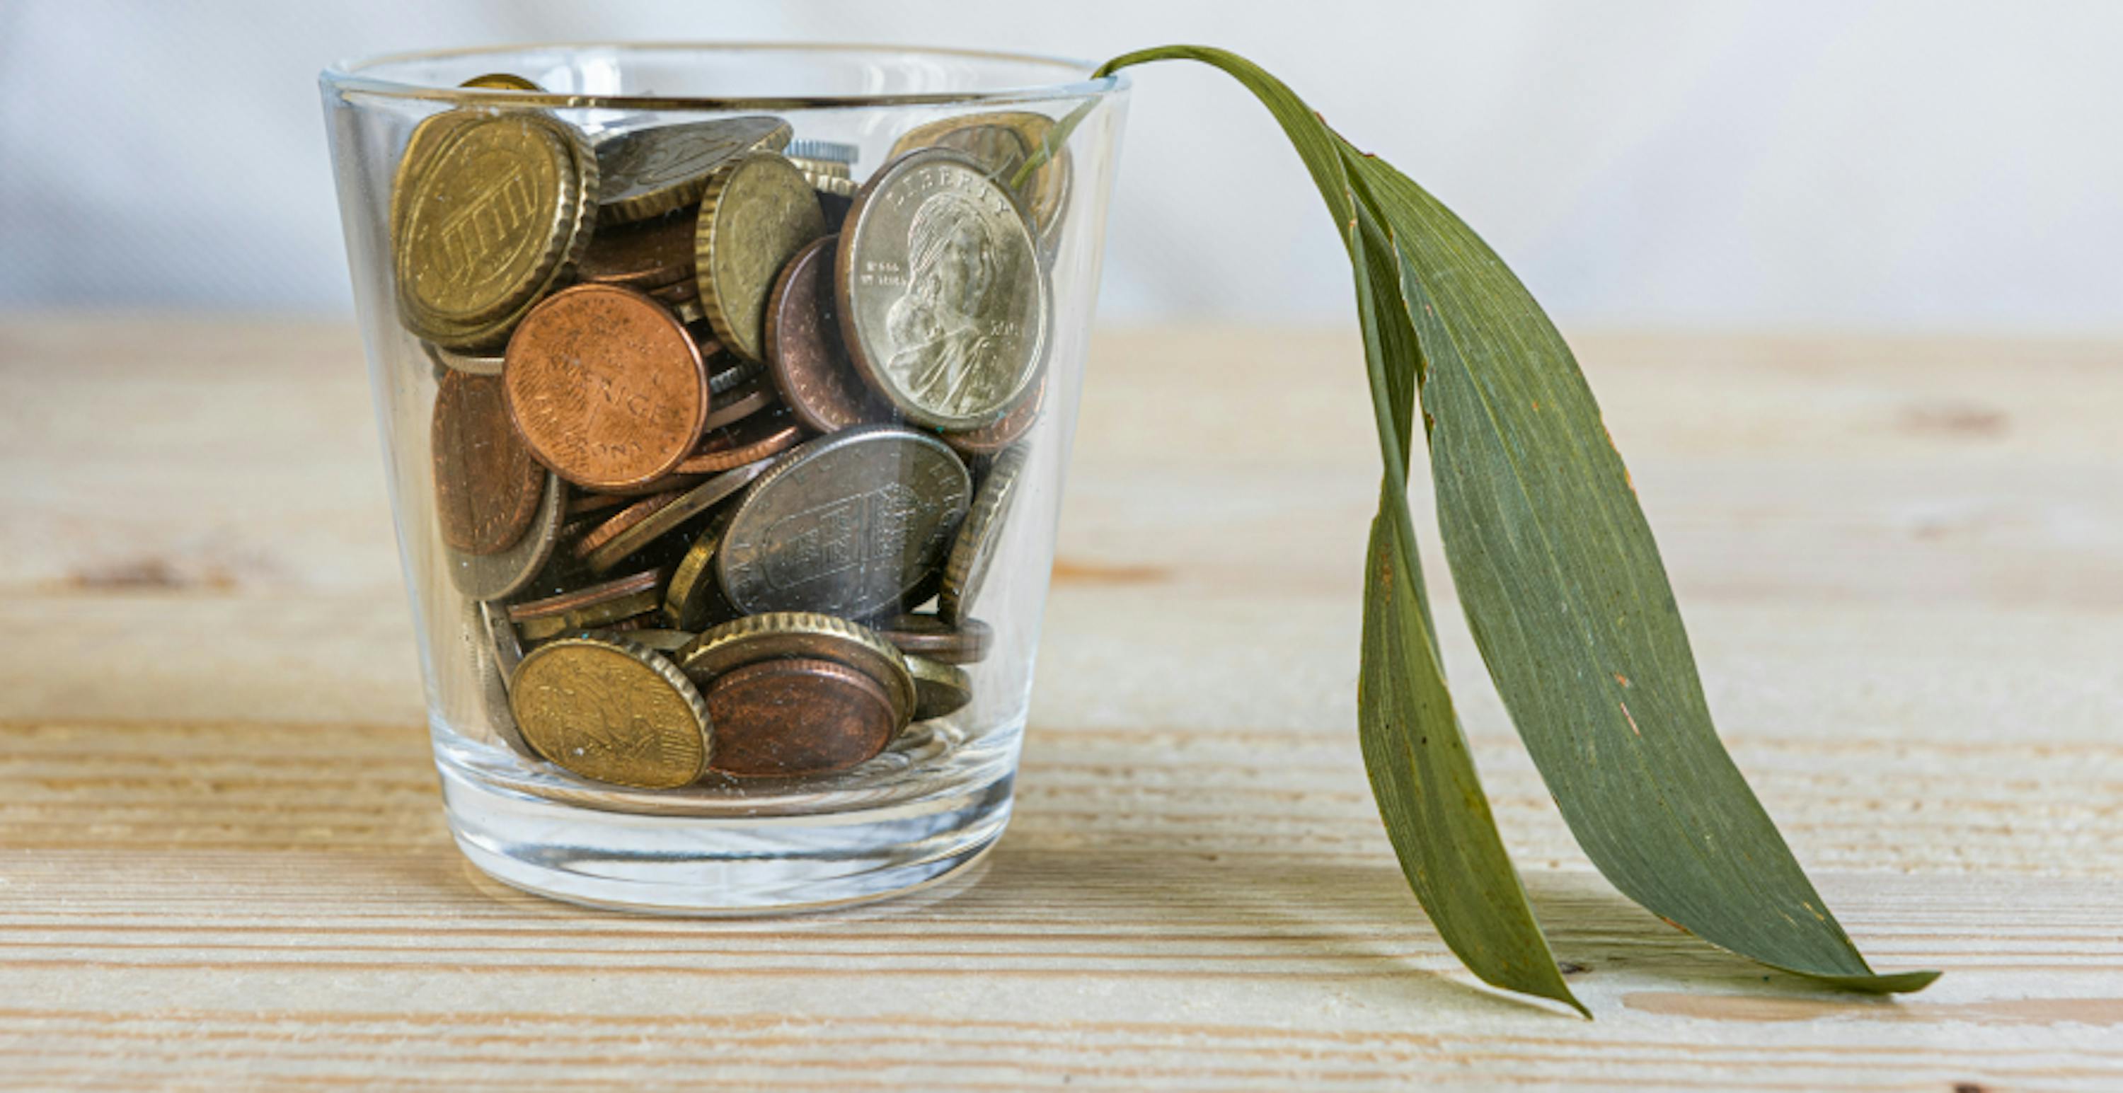
[[[1577,1006],[1446,690],[1405,501],[1418,391],[1475,645],[1601,872],[1762,964],[1858,991],[1932,983],[1936,972],[1872,974],[1718,741],[1622,456],[1518,278],[1408,176],[1357,153],[1233,53],[1149,49],[1100,74],[1153,59],[1204,62],[1253,91],[1346,233],[1384,463],[1365,554],[1359,736],[1401,870],[1446,944],[1492,985]]]

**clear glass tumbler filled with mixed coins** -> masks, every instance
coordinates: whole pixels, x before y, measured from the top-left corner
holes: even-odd
[[[554,45],[321,76],[444,811],[594,906],[1002,834],[1123,79]]]

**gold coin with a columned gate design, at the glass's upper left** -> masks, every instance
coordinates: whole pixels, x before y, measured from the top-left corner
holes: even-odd
[[[597,159],[550,115],[422,121],[391,193],[405,327],[448,348],[501,342],[588,244],[594,195]]]

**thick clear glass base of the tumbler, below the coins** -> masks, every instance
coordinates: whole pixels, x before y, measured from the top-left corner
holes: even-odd
[[[643,815],[527,794],[446,758],[450,832],[488,877],[586,906],[786,915],[881,900],[970,866],[1011,821],[1015,777],[815,815]]]

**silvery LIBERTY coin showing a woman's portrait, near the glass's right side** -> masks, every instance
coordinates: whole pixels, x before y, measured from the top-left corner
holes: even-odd
[[[981,166],[909,153],[856,197],[834,257],[847,357],[907,420],[979,429],[1028,399],[1049,291],[1032,223]]]

